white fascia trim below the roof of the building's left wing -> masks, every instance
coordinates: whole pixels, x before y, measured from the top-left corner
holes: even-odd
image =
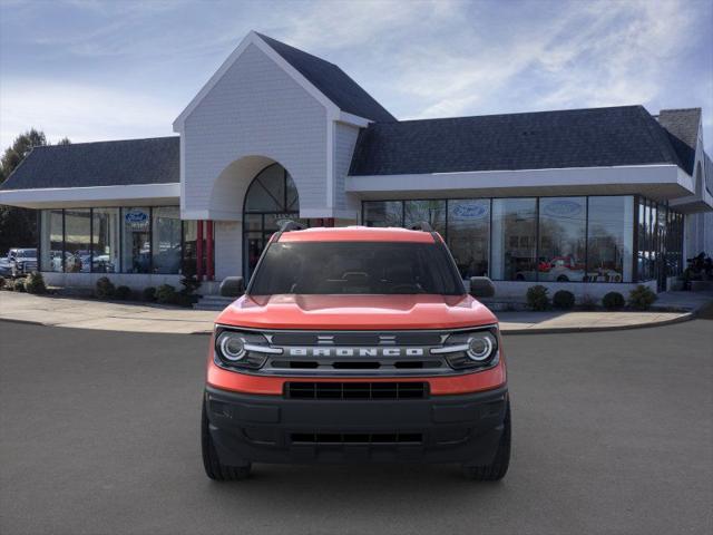
[[[0,204],[42,208],[56,205],[81,207],[91,204],[121,205],[133,202],[158,205],[178,204],[180,184],[131,184],[127,186],[46,187],[37,189],[1,189]]]

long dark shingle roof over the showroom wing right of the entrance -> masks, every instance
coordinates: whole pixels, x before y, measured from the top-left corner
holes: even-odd
[[[681,165],[642,106],[377,123],[359,136],[351,175]]]

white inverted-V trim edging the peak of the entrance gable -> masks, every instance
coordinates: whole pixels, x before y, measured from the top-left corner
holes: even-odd
[[[211,93],[216,84],[223,78],[225,72],[237,61],[248,46],[254,45],[272,59],[279,67],[281,67],[290,77],[292,77],[300,86],[302,86],[315,100],[324,106],[333,115],[339,114],[339,107],[330,100],[322,91],[320,91],[310,80],[307,80],[297,69],[292,67],[280,54],[275,51],[270,45],[261,39],[261,37],[252,31],[245,36],[241,43],[233,50],[223,65],[215,71],[215,74],[208,79],[208,81],[201,88],[198,94],[193,97],[193,100],[186,106],[186,108],[176,117],[173,127],[174,132],[183,132],[184,124],[193,110],[201,104],[201,101]]]

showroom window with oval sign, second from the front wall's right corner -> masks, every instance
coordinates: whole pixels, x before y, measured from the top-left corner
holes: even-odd
[[[586,197],[541,197],[537,279],[582,282],[585,278]]]

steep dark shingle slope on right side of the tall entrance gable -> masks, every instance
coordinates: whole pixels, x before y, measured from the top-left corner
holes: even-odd
[[[280,42],[272,37],[257,35],[342,111],[375,121],[397,120],[336,65]]]

